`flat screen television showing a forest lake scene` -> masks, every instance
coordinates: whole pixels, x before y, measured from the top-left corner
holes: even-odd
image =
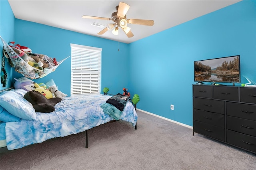
[[[194,61],[194,81],[240,83],[240,55]]]

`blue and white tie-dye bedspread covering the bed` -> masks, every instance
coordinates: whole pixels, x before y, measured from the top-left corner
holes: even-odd
[[[36,113],[36,120],[6,123],[6,144],[8,150],[40,143],[50,138],[83,132],[113,120],[100,107],[111,96],[79,95],[66,97],[55,105],[51,113]],[[127,102],[121,120],[137,122],[137,114],[132,103]]]

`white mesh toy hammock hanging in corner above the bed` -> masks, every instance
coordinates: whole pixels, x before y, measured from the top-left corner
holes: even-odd
[[[51,60],[50,57],[48,57],[47,55],[44,55],[44,61],[46,61],[47,63],[49,63],[49,67],[48,68],[44,68],[44,69],[38,69],[35,67],[32,67],[31,65],[29,65],[26,61],[24,61],[17,53],[14,52],[14,50],[2,39],[2,37],[0,36],[3,44],[4,44],[4,51],[6,51],[6,53],[8,54],[10,60],[12,61],[13,65],[14,65],[14,69],[15,71],[17,71],[18,73],[21,73],[22,75],[24,75],[24,77],[30,78],[30,79],[40,79],[50,73],[52,73],[53,71],[56,70],[56,68],[58,68],[58,66],[64,61],[66,60],[68,57],[66,57],[65,59],[61,60],[58,62],[57,65],[51,65],[49,60]],[[39,54],[38,54],[39,55]],[[42,54],[40,54],[42,55]]]

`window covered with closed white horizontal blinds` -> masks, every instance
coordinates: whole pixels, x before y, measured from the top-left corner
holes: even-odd
[[[70,44],[71,95],[100,93],[101,48]]]

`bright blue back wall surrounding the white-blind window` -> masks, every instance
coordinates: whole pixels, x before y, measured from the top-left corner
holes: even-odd
[[[32,52],[55,57],[57,61],[71,55],[70,43],[102,48],[101,89],[108,87],[109,93],[118,93],[125,85],[128,85],[128,79],[123,76],[123,74],[129,74],[128,44],[126,43],[120,43],[120,51],[118,51],[116,41],[18,19],[15,20],[14,37],[16,42],[29,47]],[[18,76],[20,74],[15,73],[15,77]],[[60,91],[70,95],[70,76],[71,57],[64,61],[56,71],[35,81],[46,83],[53,79]]]

